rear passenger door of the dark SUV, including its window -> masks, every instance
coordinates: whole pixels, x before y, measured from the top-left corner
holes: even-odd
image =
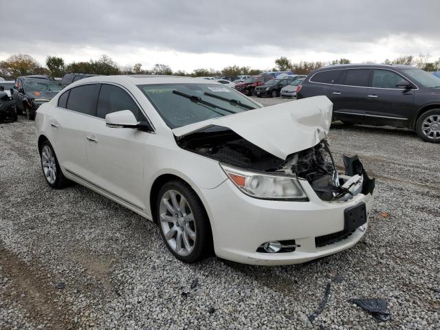
[[[333,102],[333,120],[363,122],[368,106],[371,69],[344,69],[329,95]]]

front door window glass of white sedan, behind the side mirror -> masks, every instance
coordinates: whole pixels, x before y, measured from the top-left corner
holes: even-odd
[[[138,121],[145,120],[135,101],[126,91],[113,85],[102,85],[99,93],[96,116],[105,118],[108,113],[130,110]]]

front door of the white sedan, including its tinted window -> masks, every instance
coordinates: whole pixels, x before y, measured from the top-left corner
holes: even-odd
[[[146,120],[131,94],[118,85],[102,84],[96,117],[87,131],[87,159],[94,173],[92,183],[143,212],[146,203],[144,166],[150,133],[137,129],[110,128],[108,113],[130,110],[138,121]]]

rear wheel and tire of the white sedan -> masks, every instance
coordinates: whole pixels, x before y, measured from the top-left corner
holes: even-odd
[[[40,149],[41,169],[49,186],[61,189],[69,186],[70,180],[63,175],[52,144],[45,140]],[[52,173],[52,174],[51,174]]]

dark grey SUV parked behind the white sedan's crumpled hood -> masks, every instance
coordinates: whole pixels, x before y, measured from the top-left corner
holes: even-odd
[[[297,98],[325,95],[333,120],[406,127],[440,142],[440,78],[408,65],[332,65],[311,72]]]

